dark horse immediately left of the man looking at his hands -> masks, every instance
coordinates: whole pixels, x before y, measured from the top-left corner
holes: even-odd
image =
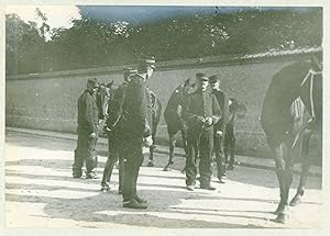
[[[172,93],[164,112],[164,119],[167,124],[167,133],[169,136],[169,159],[164,167],[164,171],[169,170],[169,166],[174,165],[174,148],[176,145],[175,135],[180,132],[185,155],[187,155],[187,125],[182,119],[183,105],[187,95],[193,92],[195,85],[190,85],[189,79],[177,87]],[[185,171],[185,168],[183,169]]]

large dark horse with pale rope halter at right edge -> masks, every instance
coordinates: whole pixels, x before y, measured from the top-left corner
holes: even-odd
[[[275,158],[280,192],[280,201],[274,212],[277,223],[286,223],[289,205],[301,202],[310,166],[309,141],[314,134],[321,139],[322,69],[318,61],[312,55],[311,60],[299,60],[284,67],[273,77],[264,98],[261,124],[271,155]],[[295,196],[288,202],[297,156],[302,161],[300,180]]]

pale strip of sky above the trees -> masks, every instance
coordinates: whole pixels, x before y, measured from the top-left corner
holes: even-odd
[[[168,18],[195,14],[228,13],[255,8],[242,7],[172,7],[172,5],[7,5],[6,13],[16,13],[23,21],[34,21],[41,24],[37,19],[36,8],[45,13],[47,24],[51,29],[72,26],[73,19],[80,19],[81,14],[106,22],[125,21],[130,24],[156,22]],[[258,8],[260,10],[280,10],[284,8]],[[307,8],[292,8],[292,10],[304,11]]]

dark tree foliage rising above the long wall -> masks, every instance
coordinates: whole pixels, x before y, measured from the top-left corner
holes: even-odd
[[[50,30],[6,15],[7,74],[127,65],[152,53],[157,60],[320,46],[322,10],[239,11],[167,19],[153,24],[106,23],[82,16]],[[51,34],[46,41],[45,34]]]

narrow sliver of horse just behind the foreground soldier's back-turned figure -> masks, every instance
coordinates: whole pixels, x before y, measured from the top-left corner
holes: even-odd
[[[162,114],[162,103],[160,99],[155,95],[153,91],[150,90],[151,99],[152,99],[152,139],[153,145],[150,146],[150,156],[147,167],[154,166],[154,150],[156,149],[156,133],[157,133],[157,125],[161,120]]]

